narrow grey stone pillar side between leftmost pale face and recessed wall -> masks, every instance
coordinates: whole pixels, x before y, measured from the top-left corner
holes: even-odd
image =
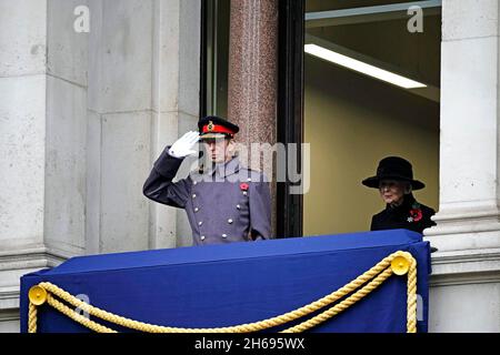
[[[74,9],[48,1],[44,243],[67,257],[86,253],[87,70],[89,33]]]

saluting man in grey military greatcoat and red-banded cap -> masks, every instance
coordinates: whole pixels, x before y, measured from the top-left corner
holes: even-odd
[[[198,128],[163,150],[144,183],[144,195],[184,209],[196,245],[270,239],[269,185],[262,173],[241,166],[232,153],[238,125],[208,116]],[[198,141],[211,166],[172,182],[183,159],[198,153],[192,150]]]

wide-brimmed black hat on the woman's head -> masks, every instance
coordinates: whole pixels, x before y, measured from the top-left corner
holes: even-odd
[[[411,163],[400,156],[387,156],[379,162],[377,175],[364,179],[362,184],[368,187],[379,189],[381,180],[397,180],[411,183],[412,190],[426,187],[421,181],[413,180]]]

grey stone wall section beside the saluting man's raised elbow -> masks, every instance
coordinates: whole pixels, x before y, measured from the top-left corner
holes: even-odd
[[[89,1],[87,251],[190,245],[184,211],[147,200],[142,184],[197,126],[200,2]]]

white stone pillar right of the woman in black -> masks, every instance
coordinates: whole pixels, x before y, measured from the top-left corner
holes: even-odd
[[[430,331],[500,332],[499,3],[443,0]]]

